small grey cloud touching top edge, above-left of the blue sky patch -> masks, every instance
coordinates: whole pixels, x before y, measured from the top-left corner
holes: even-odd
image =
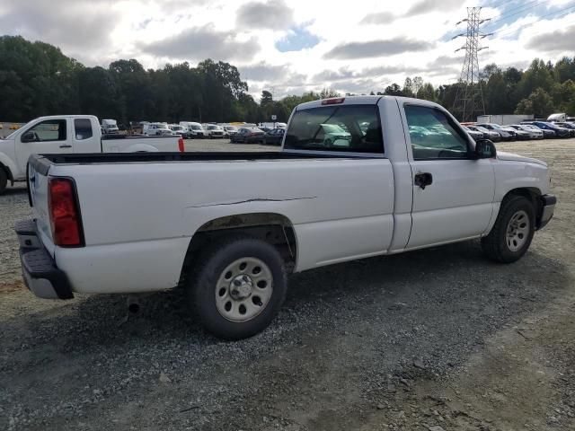
[[[236,23],[246,30],[284,30],[294,25],[294,11],[284,0],[250,2],[237,10]]]

